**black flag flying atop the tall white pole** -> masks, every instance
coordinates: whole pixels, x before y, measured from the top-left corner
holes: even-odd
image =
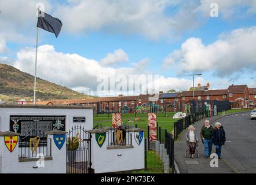
[[[55,34],[56,38],[60,34],[62,23],[58,18],[39,10],[37,27]]]

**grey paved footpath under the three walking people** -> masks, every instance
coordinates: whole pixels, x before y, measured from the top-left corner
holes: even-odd
[[[214,116],[214,117],[209,117],[207,119],[211,121],[220,118],[221,116]],[[229,116],[230,117],[230,116]],[[221,120],[218,120],[221,122]],[[204,124],[204,120],[198,121],[194,127],[196,134],[198,134],[198,137],[200,138],[200,128]],[[225,125],[225,124],[224,124]],[[227,132],[228,135],[228,140],[229,140],[229,132]],[[228,142],[231,143],[231,142]],[[225,145],[226,146],[226,145]],[[223,148],[225,148],[225,146]],[[180,170],[180,173],[234,173],[235,170],[231,168],[230,165],[226,163],[225,160],[218,160],[218,168],[212,168],[210,166],[210,161],[212,158],[204,158],[204,146],[201,140],[199,139],[199,146],[197,147],[198,152],[199,152],[199,158],[185,158],[185,151],[187,149],[186,146],[186,139],[185,139],[185,132],[181,135],[180,141],[175,142],[174,144],[174,156],[175,156],[175,161],[178,165],[178,168]],[[225,149],[222,149],[225,150]],[[212,153],[215,152],[215,147],[213,145],[213,151]],[[223,152],[222,156],[225,158],[228,154]]]

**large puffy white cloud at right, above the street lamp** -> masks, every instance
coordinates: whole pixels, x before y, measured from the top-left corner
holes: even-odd
[[[214,71],[219,76],[232,75],[242,69],[256,69],[256,27],[240,28],[221,34],[210,45],[200,38],[189,38],[181,49],[164,60],[163,66],[175,66],[179,73]],[[169,65],[173,64],[175,65]]]

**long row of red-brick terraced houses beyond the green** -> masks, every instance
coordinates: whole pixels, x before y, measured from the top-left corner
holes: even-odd
[[[231,85],[227,89],[210,90],[210,84],[194,87],[195,102],[229,101],[231,108],[254,108],[256,88],[247,85]],[[92,99],[52,100],[53,105],[93,106],[97,113],[148,113],[184,111],[188,102],[193,100],[193,88],[188,91],[144,95],[118,95]],[[45,102],[47,103],[47,102]]]

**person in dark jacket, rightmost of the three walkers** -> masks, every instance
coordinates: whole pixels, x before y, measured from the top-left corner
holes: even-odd
[[[221,159],[221,148],[222,145],[225,144],[226,141],[226,134],[224,128],[222,127],[221,123],[215,123],[215,128],[213,131],[213,143],[216,147],[216,153],[218,158]]]

